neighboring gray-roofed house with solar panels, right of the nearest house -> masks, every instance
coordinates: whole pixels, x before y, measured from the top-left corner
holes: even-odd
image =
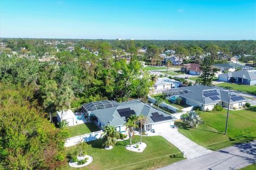
[[[163,94],[170,100],[180,97],[181,103],[201,108],[202,111],[211,111],[215,105],[228,107],[230,95],[230,108],[239,108],[249,99],[221,88],[195,85],[177,89],[165,90]]]

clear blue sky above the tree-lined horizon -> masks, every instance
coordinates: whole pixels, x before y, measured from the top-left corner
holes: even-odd
[[[253,1],[0,1],[0,37],[256,39]]]

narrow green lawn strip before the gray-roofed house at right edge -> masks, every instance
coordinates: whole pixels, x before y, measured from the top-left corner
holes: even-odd
[[[215,86],[219,86],[226,89],[232,89],[232,90],[239,90],[239,91],[245,91],[250,94],[256,94],[256,86],[248,86],[243,84],[236,84],[236,83],[220,83],[216,84]]]

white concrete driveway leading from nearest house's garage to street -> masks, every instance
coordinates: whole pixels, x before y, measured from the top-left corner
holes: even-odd
[[[170,128],[156,131],[157,134],[164,137],[166,140],[171,142],[175,147],[185,152],[185,156],[188,159],[195,158],[201,155],[209,154],[212,151],[206,149],[197,143],[191,141],[185,135],[178,132],[177,128]]]

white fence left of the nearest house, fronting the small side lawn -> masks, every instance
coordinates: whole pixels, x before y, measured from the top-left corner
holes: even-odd
[[[87,134],[79,135],[76,137],[68,138],[65,142],[65,147],[71,147],[71,146],[77,145],[77,143],[82,140],[85,142],[89,142],[92,140],[100,139],[102,137],[102,132],[103,131],[97,131],[97,132],[87,133]]]

